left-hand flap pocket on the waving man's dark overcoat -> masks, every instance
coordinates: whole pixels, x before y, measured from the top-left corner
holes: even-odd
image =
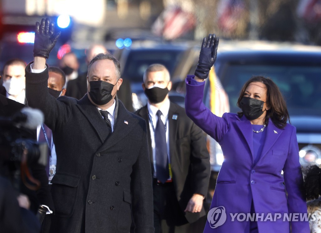
[[[56,216],[69,218],[73,214],[79,181],[80,176],[65,172],[57,172],[52,178],[51,195]]]

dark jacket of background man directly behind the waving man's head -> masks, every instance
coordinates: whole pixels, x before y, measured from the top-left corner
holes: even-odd
[[[68,88],[65,96],[81,99],[87,93],[87,73],[83,73],[78,76],[77,79],[70,80],[68,82]],[[117,92],[118,99],[124,104],[125,108],[129,112],[133,112],[133,100],[132,92],[130,88],[130,82],[127,79],[123,79],[123,83]]]

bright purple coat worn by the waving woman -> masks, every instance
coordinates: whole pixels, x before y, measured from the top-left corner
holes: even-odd
[[[273,218],[274,213],[282,215],[277,221],[259,219],[260,233],[290,232],[289,221],[282,221],[284,214],[307,213],[305,196],[300,190],[303,178],[295,127],[287,124],[279,129],[269,120],[260,159],[253,164],[250,121],[233,113],[215,116],[202,102],[204,85],[191,86],[189,78],[186,83],[187,115],[221,145],[224,154],[211,209],[223,206],[227,219],[217,228],[207,221],[204,232],[239,232],[240,229],[249,232],[249,221],[232,221],[230,214],[250,213],[252,200],[256,213],[264,213],[265,217],[271,213]],[[292,221],[291,228],[292,233],[309,232],[307,221]]]

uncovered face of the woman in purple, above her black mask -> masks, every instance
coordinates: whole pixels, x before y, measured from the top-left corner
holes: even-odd
[[[245,89],[243,96],[266,102],[267,88],[266,88],[265,84],[263,84],[261,82],[251,82],[247,86],[247,88]],[[262,111],[264,112],[265,110],[269,110],[269,109],[270,109],[270,106],[268,105],[268,103],[264,103]],[[266,114],[266,112],[265,112],[265,114]]]

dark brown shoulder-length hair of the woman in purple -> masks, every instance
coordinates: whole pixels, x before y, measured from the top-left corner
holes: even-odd
[[[267,88],[266,104],[267,106],[270,106],[270,109],[266,111],[265,124],[267,124],[269,121],[269,118],[271,118],[272,122],[274,123],[274,125],[276,125],[276,127],[278,127],[279,129],[284,128],[286,125],[286,122],[288,120],[290,122],[288,109],[286,107],[284,97],[279,87],[276,86],[276,84],[270,78],[265,78],[263,76],[253,76],[252,78],[250,78],[242,87],[237,106],[241,108],[240,106],[241,99],[244,96],[244,92],[247,86],[251,82],[263,83]],[[238,115],[239,117],[242,117],[243,112],[242,111],[238,112]]]

